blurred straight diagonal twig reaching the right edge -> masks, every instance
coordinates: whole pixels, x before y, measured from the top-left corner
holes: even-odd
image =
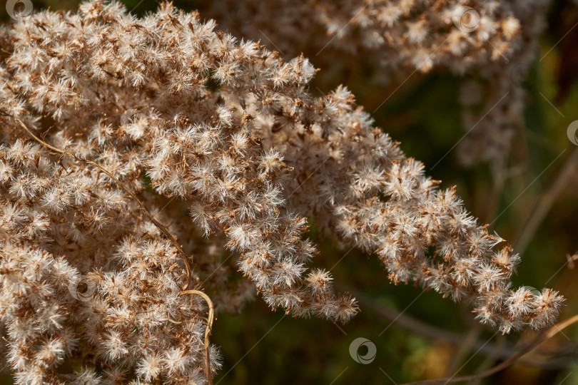
[[[518,241],[514,246],[515,252],[517,252],[519,255],[524,254],[526,251],[529,242],[534,237],[534,233],[536,230],[538,230],[539,225],[542,223],[542,220],[544,220],[544,217],[549,212],[550,207],[552,207],[554,200],[556,200],[558,195],[562,193],[562,190],[564,190],[566,187],[568,180],[570,180],[574,173],[576,173],[577,165],[578,148],[574,150],[574,152],[566,160],[566,163],[564,163],[564,166],[562,166],[562,170],[558,173],[554,183],[552,183],[550,188],[540,196],[540,199],[534,207],[534,210],[532,210],[532,214],[530,214],[530,217],[526,221],[526,224],[524,225],[522,232],[518,237]]]

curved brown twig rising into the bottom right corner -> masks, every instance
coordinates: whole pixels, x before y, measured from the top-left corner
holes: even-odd
[[[511,356],[509,359],[502,362],[502,364],[494,366],[492,369],[488,369],[482,371],[478,374],[472,374],[470,376],[461,376],[461,377],[452,377],[446,379],[435,379],[435,380],[426,380],[426,381],[415,381],[415,382],[408,382],[407,384],[402,385],[435,385],[435,384],[449,384],[450,382],[461,382],[461,381],[474,381],[477,379],[482,379],[487,376],[491,376],[492,374],[497,373],[498,371],[502,371],[506,369],[508,366],[511,366],[516,361],[518,361],[522,356],[527,354],[529,351],[536,349],[542,342],[546,341],[554,337],[559,332],[562,332],[563,329],[566,329],[572,324],[578,322],[578,315],[574,315],[565,321],[559,322],[558,324],[553,325],[549,329],[545,330],[544,332],[540,333],[538,337],[534,338],[532,342],[527,344],[524,349],[520,350],[518,353]]]

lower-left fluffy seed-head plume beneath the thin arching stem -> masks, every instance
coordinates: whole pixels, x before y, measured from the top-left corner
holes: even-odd
[[[103,174],[3,142],[0,320],[16,382],[96,384],[97,362],[111,384],[202,381],[203,303],[178,295],[171,244]]]

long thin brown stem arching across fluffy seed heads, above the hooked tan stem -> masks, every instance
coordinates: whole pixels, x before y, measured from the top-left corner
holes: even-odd
[[[146,208],[144,203],[140,199],[138,199],[138,197],[136,197],[136,195],[131,191],[130,188],[128,188],[128,186],[126,186],[124,183],[122,183],[120,180],[118,180],[118,178],[116,178],[116,176],[114,176],[112,173],[110,173],[108,170],[106,170],[106,168],[103,168],[98,163],[93,162],[92,160],[81,158],[77,155],[74,155],[73,153],[70,153],[69,151],[65,151],[65,150],[61,150],[60,148],[56,148],[53,145],[49,145],[49,143],[46,143],[44,140],[42,140],[38,136],[34,135],[34,133],[28,127],[26,127],[26,125],[22,122],[22,120],[20,120],[19,118],[14,118],[14,119],[16,119],[16,121],[18,123],[20,123],[22,128],[24,128],[24,130],[26,130],[26,132],[32,138],[34,138],[34,140],[36,140],[38,143],[43,145],[44,148],[52,151],[53,153],[58,153],[61,155],[67,155],[71,158],[78,160],[79,162],[85,163],[87,165],[92,165],[92,166],[98,168],[98,170],[101,170],[103,173],[108,175],[109,178],[114,180],[118,186],[120,186],[128,195],[130,195],[133,198],[133,200],[136,201],[138,206],[141,207],[141,210],[143,210],[143,212],[148,217],[148,219],[150,219],[154,223],[154,225],[158,228],[158,230],[160,230],[163,233],[163,235],[165,235],[165,237],[167,237],[168,240],[171,241],[173,246],[176,248],[178,255],[181,256],[181,259],[183,260],[183,263],[185,264],[185,270],[186,270],[186,274],[187,274],[187,279],[186,279],[186,282],[183,286],[183,290],[187,289],[188,282],[191,280],[191,267],[188,265],[188,261],[187,261],[185,252],[183,251],[183,248],[181,247],[181,245],[178,244],[176,238],[171,234],[171,232],[168,231],[168,229],[165,227],[165,225],[163,225],[161,222],[158,222],[158,220],[156,220],[155,217],[153,217],[153,215],[151,214],[151,212],[148,211],[148,209]]]

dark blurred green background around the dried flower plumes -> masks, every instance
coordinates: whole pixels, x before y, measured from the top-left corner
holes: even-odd
[[[157,7],[155,1],[122,2],[139,15]],[[0,19],[9,22],[4,4]],[[34,9],[73,10],[78,1],[33,0],[33,4]],[[199,9],[204,19],[213,17],[206,13],[208,1],[174,4],[185,10]],[[566,135],[569,123],[578,119],[578,29],[574,29],[578,8],[572,1],[557,0],[548,18],[549,27],[541,39],[542,54],[553,49],[534,63],[524,82],[529,91],[526,127],[515,138],[512,153],[499,170],[487,164],[463,168],[455,151],[431,170],[467,131],[460,124],[461,78],[440,71],[416,74],[372,116],[376,125],[402,143],[408,156],[425,163],[432,178],[442,180],[442,187],[457,185],[472,215],[481,222],[494,222],[497,217],[490,231],[497,231],[512,245],[534,207],[552,196],[553,185],[559,187],[513,281],[516,286],[547,286],[562,292],[567,298],[560,317],[564,319],[578,312],[574,295],[578,269],[567,263],[567,255],[578,251],[578,173],[577,168],[567,166],[577,148]],[[353,91],[358,104],[374,111],[399,83],[376,81],[375,68],[367,61],[360,58],[353,71],[344,63],[321,68],[312,92],[314,87],[328,92],[343,83]],[[315,58],[312,62],[318,66]],[[502,175],[503,183],[497,182],[497,175]],[[471,374],[499,363],[500,353],[507,354],[508,349],[535,337],[531,332],[495,334],[495,330],[473,321],[465,306],[416,287],[390,284],[375,256],[340,249],[331,240],[319,239],[312,225],[310,236],[320,247],[313,265],[333,267],[334,282],[358,296],[361,312],[349,324],[337,325],[271,312],[258,298],[240,315],[218,314],[211,341],[221,349],[223,368],[216,384],[399,384],[458,372]],[[345,253],[348,255],[335,265]],[[412,320],[417,320],[417,326]],[[377,347],[370,364],[358,364],[350,356],[350,343],[358,337]],[[485,349],[478,351],[485,342]],[[578,327],[571,327],[528,354],[525,364],[516,364],[480,384],[578,384],[577,342]],[[360,354],[364,354],[363,349]],[[11,377],[5,374],[0,381],[9,384]]]

